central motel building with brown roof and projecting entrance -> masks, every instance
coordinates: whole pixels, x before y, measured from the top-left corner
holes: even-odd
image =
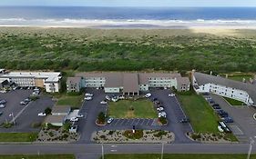
[[[169,73],[78,73],[67,78],[67,92],[79,92],[82,87],[104,88],[105,93],[138,95],[150,87],[170,88],[178,91],[189,90],[189,78]]]

